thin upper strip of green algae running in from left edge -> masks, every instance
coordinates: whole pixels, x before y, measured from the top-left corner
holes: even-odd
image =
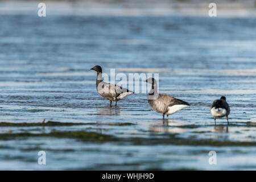
[[[74,125],[111,125],[111,126],[130,126],[135,125],[134,123],[121,123],[121,122],[113,122],[113,123],[102,123],[102,122],[96,122],[96,123],[73,123],[73,122],[57,122],[57,121],[48,121],[48,122],[37,122],[37,123],[10,123],[10,122],[0,122],[1,126],[74,126]]]

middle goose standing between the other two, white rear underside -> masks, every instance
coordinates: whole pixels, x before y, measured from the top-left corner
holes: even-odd
[[[150,92],[148,93],[148,105],[150,105],[151,109],[158,113],[164,115],[174,114],[177,111],[188,107],[189,104],[187,102],[181,101],[175,97],[172,97],[169,94],[159,94],[158,93],[158,85],[154,78],[148,78],[146,80],[149,84],[152,85]]]

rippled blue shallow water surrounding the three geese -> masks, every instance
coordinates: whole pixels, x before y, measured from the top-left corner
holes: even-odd
[[[0,137],[0,169],[256,169],[255,18],[1,15],[0,22],[0,122],[91,123],[1,126],[0,134],[82,130],[119,139]],[[159,73],[160,92],[191,106],[168,123],[146,94],[110,108],[96,92],[94,65]],[[214,126],[209,111],[222,95],[229,127],[224,118]],[[40,150],[46,166],[37,163]],[[212,150],[217,165],[208,163]]]

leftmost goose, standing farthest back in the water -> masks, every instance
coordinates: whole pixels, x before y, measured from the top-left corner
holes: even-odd
[[[107,82],[102,81],[102,69],[100,66],[96,65],[91,69],[97,72],[97,92],[102,97],[110,101],[110,107],[112,106],[112,101],[115,101],[115,106],[117,106],[117,101],[120,101],[126,96],[134,93],[130,90],[127,90],[126,88],[122,88],[121,86],[109,84]]]

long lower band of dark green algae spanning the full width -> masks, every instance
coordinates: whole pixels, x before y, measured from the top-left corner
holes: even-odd
[[[51,133],[6,133],[0,134],[0,140],[9,140],[22,137],[53,137],[53,138],[73,138],[84,142],[120,142],[121,144],[133,145],[157,145],[157,144],[174,144],[184,146],[256,146],[256,142],[240,142],[231,140],[213,140],[213,139],[196,139],[180,138],[177,134],[152,135],[150,138],[143,137],[114,137],[107,134],[99,134],[88,131],[51,131]]]

